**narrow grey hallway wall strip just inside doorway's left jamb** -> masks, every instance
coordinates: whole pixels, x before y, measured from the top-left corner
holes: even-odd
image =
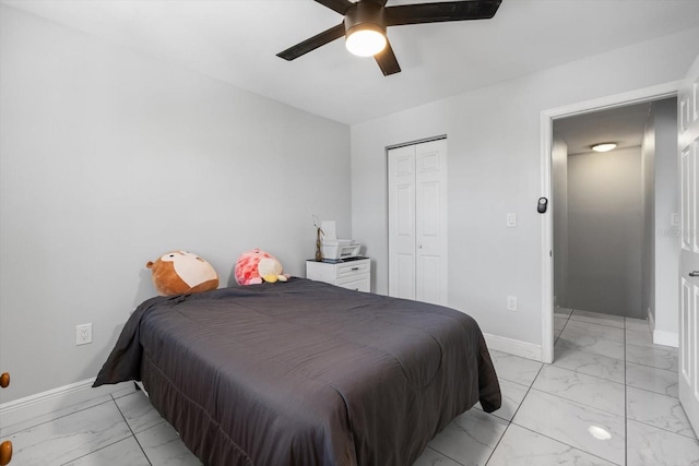
[[[568,302],[568,144],[554,133],[552,144],[552,214],[554,216],[554,303]]]

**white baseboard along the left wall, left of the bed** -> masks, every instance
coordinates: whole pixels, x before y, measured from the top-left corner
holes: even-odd
[[[94,381],[94,379],[83,380],[0,404],[0,429],[133,387],[133,383],[125,382],[93,389]]]

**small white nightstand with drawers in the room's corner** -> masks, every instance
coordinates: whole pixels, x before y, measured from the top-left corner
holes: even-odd
[[[306,278],[325,282],[357,291],[371,291],[371,260],[345,259],[342,262],[306,261]]]

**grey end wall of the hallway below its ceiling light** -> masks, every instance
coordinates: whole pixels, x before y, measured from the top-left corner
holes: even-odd
[[[573,309],[641,318],[640,147],[568,157],[568,296]]]

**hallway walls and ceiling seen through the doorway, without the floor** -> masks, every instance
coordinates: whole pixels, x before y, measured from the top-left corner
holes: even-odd
[[[676,309],[676,128],[675,97],[554,120],[557,306],[651,321]]]

